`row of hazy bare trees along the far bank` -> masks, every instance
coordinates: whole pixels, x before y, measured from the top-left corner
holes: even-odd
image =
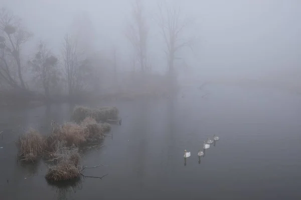
[[[142,73],[150,73],[152,66],[147,51],[149,17],[145,13],[143,0],[133,0],[125,36],[133,47],[134,64],[138,64]],[[177,52],[193,45],[192,39],[183,36],[192,20],[183,17],[180,7],[168,6],[166,2],[158,3],[158,12],[153,18],[165,42],[163,52],[166,54],[168,73],[174,74]],[[85,20],[83,23],[87,24],[89,19]],[[40,41],[35,54],[23,58],[24,44],[33,36],[23,26],[20,17],[7,8],[0,10],[0,91],[41,91],[46,99],[55,95],[74,96],[87,90],[97,91],[107,73],[102,70],[105,67],[111,67],[112,78],[117,79],[116,47],[112,58],[99,61],[99,55],[89,52],[88,43],[79,43],[79,34],[66,33],[62,36],[61,55],[55,55],[45,41]]]

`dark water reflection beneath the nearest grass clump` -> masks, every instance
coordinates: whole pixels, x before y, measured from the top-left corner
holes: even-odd
[[[54,195],[54,198],[57,199],[68,199],[72,193],[76,193],[77,190],[82,189],[82,180],[81,178],[77,178],[70,181],[62,181],[58,183],[53,183],[51,181],[47,181],[49,185],[52,186],[52,188],[56,189],[56,193]]]

